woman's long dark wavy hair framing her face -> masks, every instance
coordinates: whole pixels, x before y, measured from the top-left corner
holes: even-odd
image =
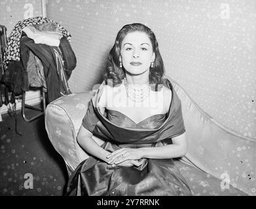
[[[154,90],[158,91],[158,84],[163,84],[162,77],[164,76],[164,63],[158,49],[158,42],[156,40],[155,34],[151,29],[143,24],[134,23],[124,25],[117,33],[117,38],[115,39],[115,44],[109,52],[109,57],[107,59],[107,66],[105,72],[105,82],[109,86],[116,86],[122,83],[122,79],[125,77],[124,69],[120,68],[120,48],[122,45],[122,40],[128,33],[135,31],[141,31],[146,33],[151,40],[153,46],[153,52],[155,52],[154,67],[149,68],[149,84],[155,86]],[[155,84],[155,85],[152,85]]]

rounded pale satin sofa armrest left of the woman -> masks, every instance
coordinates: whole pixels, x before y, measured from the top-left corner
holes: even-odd
[[[45,112],[45,127],[55,150],[62,155],[68,174],[89,155],[77,143],[77,133],[93,95],[92,91],[73,93],[50,103]],[[98,144],[103,141],[93,137]]]

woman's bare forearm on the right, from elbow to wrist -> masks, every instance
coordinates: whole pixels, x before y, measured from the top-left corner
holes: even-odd
[[[141,158],[151,158],[151,159],[168,159],[175,157],[182,157],[187,152],[185,146],[180,146],[177,144],[168,144],[166,146],[160,146],[156,148],[139,148],[141,152]]]

